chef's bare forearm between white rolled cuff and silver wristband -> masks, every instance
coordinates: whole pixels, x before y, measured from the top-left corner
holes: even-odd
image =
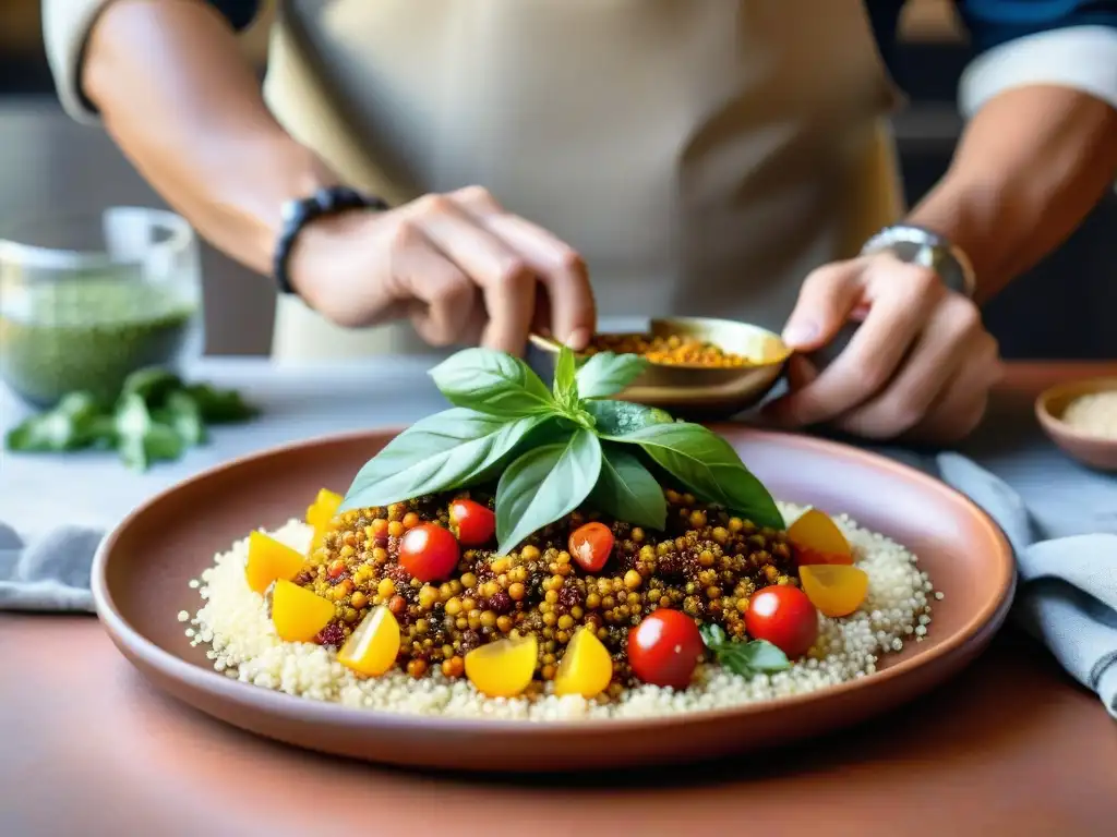
[[[983,301],[1073,232],[1115,179],[1117,110],[1067,87],[1021,87],[977,112],[908,220],[970,256]]]

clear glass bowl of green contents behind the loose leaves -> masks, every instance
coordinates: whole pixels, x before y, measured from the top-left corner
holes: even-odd
[[[0,379],[29,404],[114,398],[146,366],[179,371],[204,343],[198,238],[164,210],[12,224],[0,235]]]

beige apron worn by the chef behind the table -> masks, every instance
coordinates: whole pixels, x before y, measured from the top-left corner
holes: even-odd
[[[599,314],[782,327],[900,212],[861,0],[286,0],[266,94],[353,184],[479,184],[585,258]],[[423,350],[280,300],[277,358]]]

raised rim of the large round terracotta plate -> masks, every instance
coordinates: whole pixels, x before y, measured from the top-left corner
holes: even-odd
[[[314,448],[324,444],[345,444],[367,440],[376,435],[394,436],[402,432],[407,425],[390,425],[357,431],[343,431],[335,433],[316,434],[303,440],[284,442],[269,448],[252,451],[225,462],[210,465],[185,479],[169,485],[155,494],[149,497],[144,502],[130,511],[113,529],[102,539],[94,555],[90,590],[93,593],[94,606],[97,617],[104,626],[109,638],[121,651],[122,655],[130,663],[143,671],[144,666],[154,668],[161,676],[184,683],[191,690],[216,695],[221,700],[251,709],[259,709],[273,716],[296,718],[304,723],[354,723],[364,729],[392,728],[393,730],[407,730],[410,728],[422,728],[424,733],[476,733],[479,729],[486,734],[521,735],[521,734],[547,734],[562,735],[586,730],[624,730],[629,732],[641,729],[656,729],[663,724],[686,725],[697,723],[716,723],[731,719],[741,719],[748,715],[763,715],[780,710],[790,710],[811,703],[820,703],[837,700],[842,696],[853,695],[877,684],[882,684],[891,680],[906,680],[918,675],[919,671],[936,663],[942,664],[955,655],[962,653],[967,645],[977,639],[987,643],[992,636],[1000,631],[1008,612],[1012,605],[1018,581],[1015,556],[1008,537],[995,520],[976,502],[957,489],[952,488],[942,480],[937,480],[919,469],[889,459],[873,451],[867,451],[850,444],[836,442],[828,439],[820,439],[800,433],[786,433],[782,431],[771,431],[753,427],[746,424],[734,424],[727,422],[710,423],[707,426],[724,435],[724,431],[732,430],[734,433],[745,433],[760,442],[765,439],[787,439],[794,437],[798,443],[805,444],[820,453],[837,455],[844,459],[868,460],[870,464],[886,471],[892,471],[904,477],[911,478],[922,483],[928,490],[946,494],[955,502],[961,501],[968,506],[972,512],[982,521],[989,530],[994,541],[997,541],[1001,549],[994,556],[995,570],[997,575],[997,595],[994,596],[980,612],[971,615],[963,627],[956,631],[948,639],[934,646],[933,648],[917,653],[907,660],[903,660],[895,666],[878,670],[863,677],[857,677],[827,686],[825,689],[805,692],[801,694],[786,695],[765,701],[742,703],[734,706],[723,706],[716,709],[696,710],[677,714],[651,715],[643,718],[611,718],[611,719],[574,719],[556,721],[529,721],[525,719],[498,719],[498,718],[459,718],[445,714],[420,714],[408,712],[393,712],[390,710],[367,709],[363,706],[351,706],[334,701],[318,701],[304,696],[296,696],[279,692],[277,690],[265,689],[264,686],[233,680],[211,667],[203,667],[188,662],[170,651],[161,647],[136,627],[134,627],[120,612],[112,594],[108,590],[106,567],[116,542],[122,532],[134,523],[134,521],[147,513],[153,507],[165,502],[168,498],[181,490],[185,485],[197,484],[212,479],[214,475],[232,471],[245,464],[280,455],[285,452],[300,449]],[[245,533],[245,537],[248,532]],[[986,631],[992,626],[992,631]],[[983,632],[987,636],[982,637]],[[157,684],[156,684],[157,685]],[[169,693],[173,698],[178,694],[169,692],[163,686],[160,691]],[[179,698],[179,700],[182,700]],[[188,701],[189,703],[189,701]],[[204,711],[204,710],[203,710]],[[204,711],[212,715],[211,712]]]

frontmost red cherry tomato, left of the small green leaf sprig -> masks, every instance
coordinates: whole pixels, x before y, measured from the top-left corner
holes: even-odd
[[[686,689],[704,651],[698,626],[681,610],[660,607],[629,631],[632,673],[656,686]]]

